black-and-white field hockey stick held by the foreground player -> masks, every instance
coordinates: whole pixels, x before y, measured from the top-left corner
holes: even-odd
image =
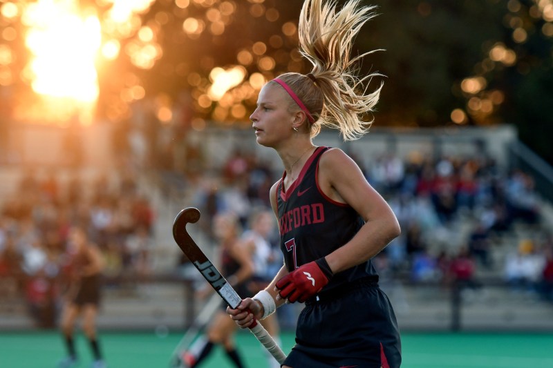
[[[190,262],[200,271],[205,280],[211,284],[219,296],[225,300],[229,307],[236,309],[238,304],[241,303],[242,298],[238,296],[238,293],[236,293],[227,280],[223,278],[223,275],[221,275],[212,262],[209,261],[207,256],[201,251],[198,244],[194,242],[186,230],[186,224],[189,222],[198,222],[198,220],[200,220],[200,211],[198,211],[198,209],[189,207],[180,211],[173,223],[173,237],[180,250],[185,253]],[[274,342],[267,330],[261,326],[261,323],[257,322],[254,318],[252,325],[248,328],[277,362],[282,364],[286,356],[279,345],[277,345],[277,342]]]

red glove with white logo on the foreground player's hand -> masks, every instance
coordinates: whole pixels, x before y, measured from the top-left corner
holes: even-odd
[[[303,264],[288,273],[275,285],[279,295],[288,302],[305,302],[315,296],[332,278],[332,271],[324,258]]]

